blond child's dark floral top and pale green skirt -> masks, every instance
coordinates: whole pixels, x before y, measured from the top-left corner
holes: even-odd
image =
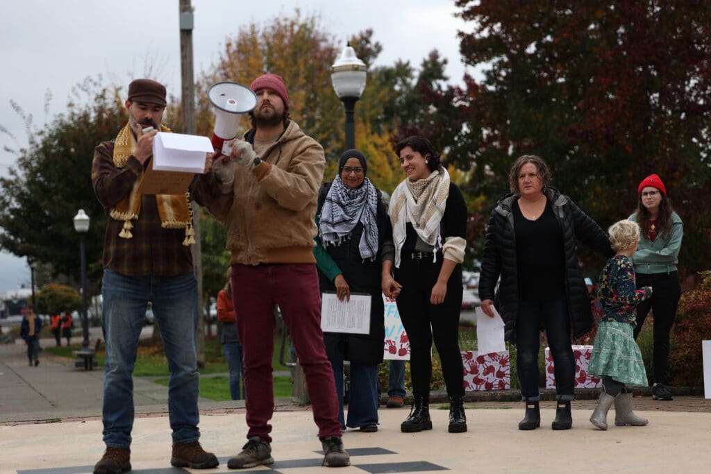
[[[597,296],[602,321],[595,336],[588,372],[611,377],[629,387],[648,385],[642,353],[634,340],[636,306],[652,295],[651,288],[636,289],[634,265],[624,255],[607,261],[600,273]]]

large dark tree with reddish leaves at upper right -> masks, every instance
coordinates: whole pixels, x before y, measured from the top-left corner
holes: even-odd
[[[457,0],[471,112],[456,144],[474,163],[470,192],[488,207],[508,192],[508,168],[542,156],[554,185],[603,227],[636,207],[658,173],[684,220],[680,261],[709,261],[711,9],[698,1]]]

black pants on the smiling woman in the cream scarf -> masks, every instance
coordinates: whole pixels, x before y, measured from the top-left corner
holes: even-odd
[[[437,263],[432,257],[413,260],[403,252],[395,280],[402,284],[397,297],[397,311],[410,340],[410,374],[412,394],[429,396],[432,379],[432,340],[442,361],[444,383],[449,397],[464,396],[464,364],[459,350],[459,313],[461,312],[461,264],[447,281],[444,303],[429,303],[432,287],[442,268],[442,255]]]

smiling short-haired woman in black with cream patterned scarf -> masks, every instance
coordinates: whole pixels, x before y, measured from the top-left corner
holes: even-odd
[[[407,178],[390,198],[392,242],[385,245],[382,286],[385,296],[397,298],[410,340],[415,402],[400,429],[405,433],[432,429],[429,384],[434,339],[450,400],[449,432],[462,433],[466,416],[459,313],[466,203],[427,139],[410,136],[395,146],[395,153]]]

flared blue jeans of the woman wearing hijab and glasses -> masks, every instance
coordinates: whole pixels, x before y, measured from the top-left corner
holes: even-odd
[[[341,349],[341,348],[339,348]],[[338,421],[341,427],[358,428],[378,424],[378,369],[380,365],[351,362],[351,392],[348,394],[348,421],[343,416],[343,351],[331,359],[338,396]]]

